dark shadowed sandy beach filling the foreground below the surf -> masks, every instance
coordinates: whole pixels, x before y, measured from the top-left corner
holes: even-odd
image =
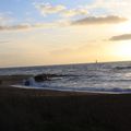
[[[131,94],[26,90],[7,83],[0,85],[1,131],[131,130]]]

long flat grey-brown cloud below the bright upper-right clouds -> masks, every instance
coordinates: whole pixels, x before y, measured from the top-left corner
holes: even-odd
[[[88,16],[85,19],[72,22],[72,25],[88,25],[88,24],[116,24],[128,21],[126,17],[108,15],[108,16]]]

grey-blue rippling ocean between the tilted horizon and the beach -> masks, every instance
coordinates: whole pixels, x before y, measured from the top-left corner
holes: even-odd
[[[63,76],[37,83],[32,87],[74,92],[131,93],[131,61],[0,69],[0,75],[43,73]]]

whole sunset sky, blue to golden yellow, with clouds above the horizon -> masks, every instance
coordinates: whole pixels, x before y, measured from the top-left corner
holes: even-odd
[[[0,0],[0,67],[131,60],[131,0]]]

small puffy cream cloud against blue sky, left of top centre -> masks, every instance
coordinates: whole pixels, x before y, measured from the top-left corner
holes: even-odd
[[[66,10],[66,7],[62,4],[51,5],[50,3],[40,3],[40,4],[35,4],[35,7],[40,11],[43,15],[59,13]]]

